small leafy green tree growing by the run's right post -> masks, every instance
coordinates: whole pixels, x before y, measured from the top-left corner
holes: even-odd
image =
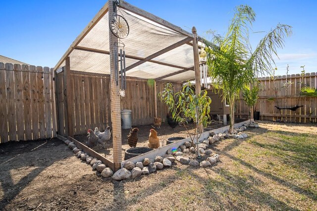
[[[168,110],[172,113],[173,120],[184,125],[193,146],[194,140],[196,140],[196,152],[197,156],[200,157],[198,140],[201,133],[199,133],[198,125],[202,123],[206,127],[210,120],[211,99],[207,96],[207,91],[202,90],[200,94],[196,95],[193,86],[188,83],[188,85],[182,87],[181,91],[174,93],[173,85],[167,83],[163,90],[159,92],[159,98],[167,105]],[[195,123],[196,128],[193,137],[186,127],[188,119],[193,119]]]

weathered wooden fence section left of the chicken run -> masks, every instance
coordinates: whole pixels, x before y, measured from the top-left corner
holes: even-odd
[[[0,143],[56,136],[52,72],[0,62]]]

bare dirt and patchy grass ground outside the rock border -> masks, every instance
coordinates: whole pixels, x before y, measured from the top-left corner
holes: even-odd
[[[124,181],[98,177],[60,140],[0,144],[0,210],[317,210],[316,125],[259,123],[212,145],[212,168]]]

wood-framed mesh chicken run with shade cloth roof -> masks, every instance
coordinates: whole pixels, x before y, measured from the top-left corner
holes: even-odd
[[[158,93],[165,83],[174,92],[186,81],[201,84],[199,48],[194,27],[189,33],[126,1],[107,1],[54,67],[58,134],[84,148],[88,129],[110,127],[105,147],[87,150],[111,169],[120,168],[130,148],[131,127],[139,129],[137,147],[148,146],[150,129],[160,146],[174,134],[187,137]]]

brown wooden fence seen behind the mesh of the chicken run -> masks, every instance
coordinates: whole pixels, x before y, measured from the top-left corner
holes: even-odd
[[[55,75],[56,100],[58,114],[58,133],[68,134],[67,128],[67,100],[65,91],[64,72]],[[110,78],[104,74],[84,74],[71,71],[70,73],[71,111],[74,134],[86,134],[87,129],[99,127],[104,131],[111,127],[110,108]],[[180,90],[180,83],[173,83],[176,91]],[[157,82],[157,92],[163,89],[163,82]],[[168,112],[167,106],[157,100],[158,116],[162,121]],[[132,126],[151,124],[154,122],[154,87],[147,80],[127,79],[125,97],[121,97],[121,109],[132,111]]]

